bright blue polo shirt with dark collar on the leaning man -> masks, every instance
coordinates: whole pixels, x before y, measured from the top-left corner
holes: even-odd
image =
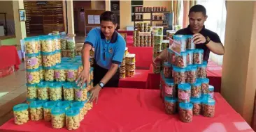
[[[94,60],[100,67],[110,69],[112,63],[120,67],[126,42],[117,31],[113,33],[111,40],[106,40],[100,28],[93,28],[85,38],[85,44],[94,47]]]

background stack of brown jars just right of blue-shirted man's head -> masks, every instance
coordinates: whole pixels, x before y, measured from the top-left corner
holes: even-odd
[[[140,22],[134,29],[134,47],[152,47],[151,26],[149,23]]]

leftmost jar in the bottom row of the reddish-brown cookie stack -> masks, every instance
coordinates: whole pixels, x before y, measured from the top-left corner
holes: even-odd
[[[171,97],[164,97],[164,108],[167,114],[175,114],[177,112],[177,99]]]

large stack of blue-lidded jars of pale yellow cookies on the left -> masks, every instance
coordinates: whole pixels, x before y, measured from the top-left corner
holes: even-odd
[[[61,58],[60,36],[42,35],[24,38],[22,42],[26,53],[27,104],[13,106],[15,124],[44,119],[54,129],[78,129],[84,115],[92,109],[87,98],[93,87],[93,68],[90,67],[89,83],[78,87],[76,79],[83,69],[81,56]]]

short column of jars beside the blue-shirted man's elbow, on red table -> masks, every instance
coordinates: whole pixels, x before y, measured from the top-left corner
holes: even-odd
[[[123,69],[122,69],[123,70]],[[132,77],[135,74],[135,54],[125,56],[125,76]]]

